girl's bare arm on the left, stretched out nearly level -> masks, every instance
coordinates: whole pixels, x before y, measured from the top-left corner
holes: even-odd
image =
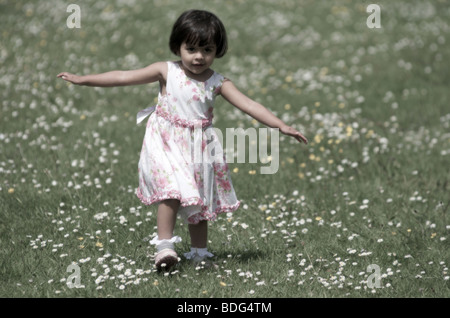
[[[76,85],[112,87],[165,81],[167,63],[157,62],[147,67],[130,71],[111,71],[101,74],[79,76],[62,72],[57,77]]]

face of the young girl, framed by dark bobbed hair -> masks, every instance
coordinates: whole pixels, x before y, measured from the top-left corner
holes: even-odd
[[[216,45],[208,44],[200,47],[183,42],[180,47],[180,57],[185,71],[194,76],[205,75],[216,57]]]

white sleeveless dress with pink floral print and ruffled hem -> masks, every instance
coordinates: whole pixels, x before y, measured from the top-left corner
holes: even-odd
[[[146,205],[179,200],[178,214],[187,223],[213,221],[240,204],[212,127],[224,77],[214,72],[199,82],[187,77],[178,62],[167,63],[166,94],[159,93],[147,122],[136,194]]]

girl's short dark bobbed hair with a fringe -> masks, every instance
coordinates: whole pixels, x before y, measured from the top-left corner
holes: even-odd
[[[225,55],[228,49],[227,33],[219,18],[203,10],[185,11],[175,21],[170,35],[169,47],[178,55],[181,44],[205,46],[216,45],[216,58]]]

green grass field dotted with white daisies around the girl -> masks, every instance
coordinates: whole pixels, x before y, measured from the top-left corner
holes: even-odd
[[[449,297],[447,1],[0,0],[1,297]],[[367,20],[380,8],[380,28]],[[229,164],[241,207],[209,227],[212,264],[153,267],[156,207],[135,196],[158,85],[56,75],[174,60],[186,9],[216,13],[213,68],[286,123],[273,156]],[[68,12],[69,11],[69,12]],[[261,124],[223,99],[215,127]],[[269,152],[270,154],[270,152]]]

